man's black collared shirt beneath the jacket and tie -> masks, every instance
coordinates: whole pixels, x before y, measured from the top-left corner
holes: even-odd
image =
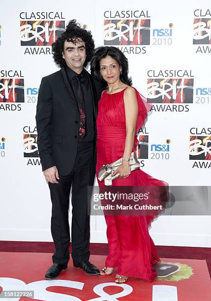
[[[70,69],[68,66],[65,66],[65,69],[77,100],[78,81],[76,76],[78,75],[78,73]],[[84,138],[79,137],[78,141],[88,142],[94,139],[93,101],[91,97],[90,81],[84,69],[81,71],[80,75],[82,76],[81,86],[84,93],[84,101],[85,101],[85,108],[86,108],[87,135]]]

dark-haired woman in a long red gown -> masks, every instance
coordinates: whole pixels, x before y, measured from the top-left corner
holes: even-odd
[[[97,117],[97,165],[99,169],[121,157],[115,172],[120,177],[113,186],[166,186],[141,169],[131,172],[128,159],[137,146],[136,133],[144,124],[151,104],[143,101],[139,92],[130,87],[128,62],[116,47],[99,47],[91,61],[91,73],[107,90],[102,92]],[[114,174],[113,174],[114,175]],[[104,186],[104,181],[98,181]],[[115,282],[128,277],[152,281],[156,270],[152,265],[160,261],[148,227],[154,215],[105,215],[109,254],[101,275],[111,274],[118,267]]]

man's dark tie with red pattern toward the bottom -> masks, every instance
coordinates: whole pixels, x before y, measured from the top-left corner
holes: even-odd
[[[84,93],[81,85],[81,74],[76,76],[78,85],[77,85],[77,101],[78,101],[78,108],[79,108],[79,137],[84,138],[87,134],[86,128],[86,108],[85,108],[85,101],[84,101]]]

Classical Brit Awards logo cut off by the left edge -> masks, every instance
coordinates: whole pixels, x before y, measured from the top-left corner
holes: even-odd
[[[22,70],[0,70],[0,110],[21,111],[24,102]]]

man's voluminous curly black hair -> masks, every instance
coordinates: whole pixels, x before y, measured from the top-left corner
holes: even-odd
[[[66,64],[65,60],[62,58],[65,40],[75,44],[79,38],[85,42],[86,60],[84,62],[84,67],[86,67],[88,62],[91,60],[94,53],[94,40],[92,39],[91,32],[81,28],[80,24],[76,23],[76,20],[74,19],[68,23],[66,30],[61,34],[56,42],[52,44],[53,58],[60,67],[63,67]]]

